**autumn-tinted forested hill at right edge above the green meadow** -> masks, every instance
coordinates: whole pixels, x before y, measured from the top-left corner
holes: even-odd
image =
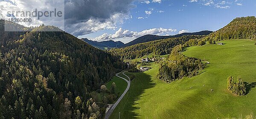
[[[207,37],[207,41],[229,39],[256,40],[256,17],[238,17]]]

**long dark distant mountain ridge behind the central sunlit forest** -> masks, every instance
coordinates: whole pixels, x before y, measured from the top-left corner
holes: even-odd
[[[131,42],[125,44],[125,46],[132,46],[132,45],[135,45],[135,44],[145,43],[145,42],[149,42],[149,41],[156,41],[156,40],[160,40],[160,39],[179,38],[179,37],[182,37],[184,35],[209,35],[210,33],[212,33],[212,31],[181,33],[181,34],[169,35],[169,36],[143,35],[139,38],[136,38],[134,41],[131,41]]]

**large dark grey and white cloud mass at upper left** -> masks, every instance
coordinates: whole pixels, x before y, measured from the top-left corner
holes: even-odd
[[[132,16],[129,14],[130,9],[134,7],[133,2],[134,0],[0,0],[0,8],[12,11],[32,11],[35,8],[38,11],[54,11],[55,8],[65,8],[62,19],[65,20],[65,27],[61,29],[72,35],[81,36],[104,29],[115,29],[119,23],[131,19]],[[6,15],[4,10],[1,9],[0,12]],[[61,23],[61,20],[55,20],[54,17],[32,21],[36,22],[21,24],[38,26],[44,23],[60,27]]]

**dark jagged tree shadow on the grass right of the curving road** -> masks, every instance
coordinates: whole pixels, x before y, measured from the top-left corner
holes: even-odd
[[[131,89],[129,90],[130,97],[128,97],[125,107],[125,111],[128,114],[125,114],[125,119],[139,119],[140,114],[137,113],[137,110],[141,107],[137,106],[137,101],[141,99],[146,89],[150,89],[156,85],[151,75],[146,73],[135,73],[134,75],[136,78],[131,82]]]

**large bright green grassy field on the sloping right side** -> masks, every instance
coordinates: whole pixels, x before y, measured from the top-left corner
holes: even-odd
[[[227,77],[256,82],[256,41],[221,41],[224,45],[192,46],[183,54],[209,61],[203,73],[170,84],[159,81],[159,65],[135,75],[110,119],[216,119],[256,115],[256,88],[246,96],[227,90]],[[205,85],[205,86],[203,86]],[[192,88],[190,88],[192,87]],[[213,90],[213,91],[211,91]]]

